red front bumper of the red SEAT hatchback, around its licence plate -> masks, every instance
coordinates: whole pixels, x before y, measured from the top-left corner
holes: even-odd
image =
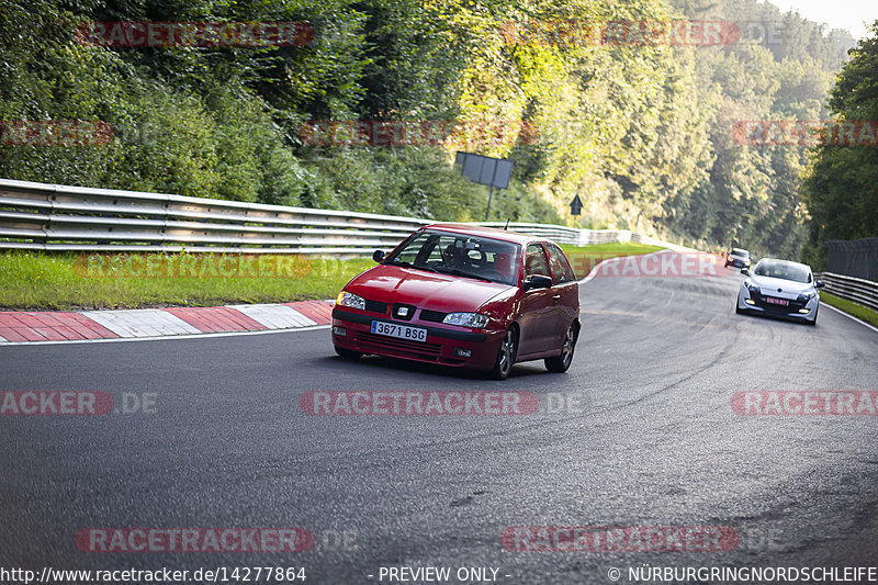
[[[426,341],[398,339],[372,333],[372,322],[381,320],[396,325],[427,329]],[[344,335],[341,335],[344,330]],[[463,327],[437,327],[431,323],[410,320],[403,322],[381,315],[348,311],[340,307],[333,310],[333,344],[359,351],[389,358],[439,363],[443,365],[491,370],[497,359],[497,351],[505,329],[472,330]],[[455,349],[459,350],[455,353]],[[469,357],[460,356],[460,350],[470,351]]]

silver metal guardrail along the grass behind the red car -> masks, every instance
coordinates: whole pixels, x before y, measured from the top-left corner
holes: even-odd
[[[393,248],[429,223],[416,217],[0,179],[0,249],[360,256]],[[508,227],[577,246],[642,241],[688,250],[628,229],[534,223]]]

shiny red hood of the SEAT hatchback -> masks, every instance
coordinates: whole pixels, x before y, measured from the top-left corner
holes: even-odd
[[[443,313],[475,311],[510,289],[515,286],[386,265],[367,270],[345,286],[370,301],[406,303]]]

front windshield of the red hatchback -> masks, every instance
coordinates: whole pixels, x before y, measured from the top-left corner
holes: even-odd
[[[425,230],[409,236],[382,263],[514,285],[520,250],[511,241]]]

